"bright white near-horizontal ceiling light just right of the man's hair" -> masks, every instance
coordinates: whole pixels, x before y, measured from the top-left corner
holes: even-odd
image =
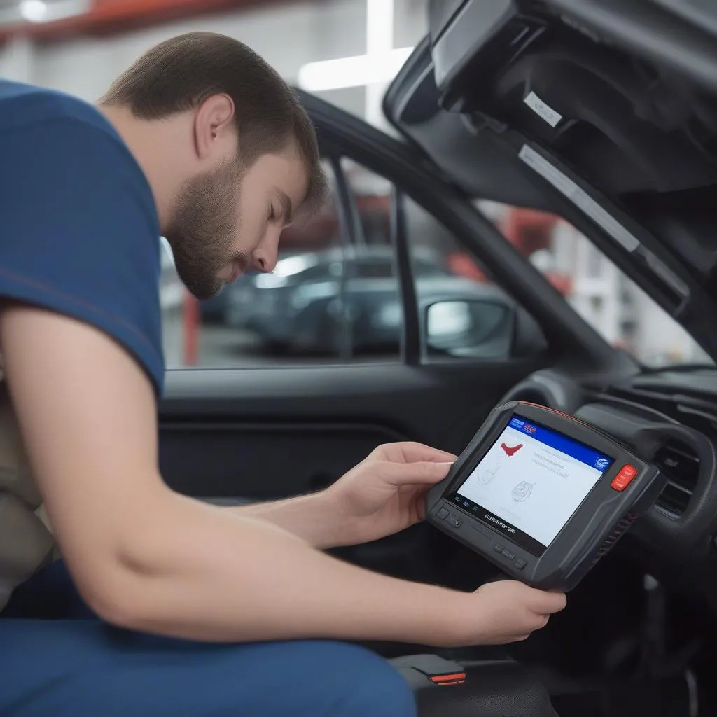
[[[390,82],[412,52],[412,47],[401,47],[390,52],[309,62],[299,70],[299,87],[310,92],[320,92]]]

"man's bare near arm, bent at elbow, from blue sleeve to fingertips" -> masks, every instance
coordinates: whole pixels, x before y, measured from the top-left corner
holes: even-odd
[[[265,521],[172,493],[158,473],[151,384],[128,352],[23,305],[4,308],[0,336],[57,539],[80,593],[109,622],[198,640],[444,645],[495,637],[505,620],[492,612],[506,602],[495,589],[518,591],[510,639],[562,607],[517,583],[463,594],[373,574]]]

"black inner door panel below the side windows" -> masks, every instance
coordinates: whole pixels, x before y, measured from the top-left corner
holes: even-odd
[[[198,498],[266,500],[323,488],[377,445],[460,452],[536,360],[171,371],[161,471]]]

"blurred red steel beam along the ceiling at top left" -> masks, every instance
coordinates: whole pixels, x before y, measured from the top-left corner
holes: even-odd
[[[287,0],[92,0],[84,14],[54,22],[0,27],[0,42],[15,35],[54,42],[73,35],[108,35],[135,27],[236,8],[276,5]]]

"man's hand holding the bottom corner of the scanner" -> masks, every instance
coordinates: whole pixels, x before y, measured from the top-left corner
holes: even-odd
[[[514,580],[491,582],[466,594],[462,609],[454,615],[453,645],[507,645],[526,640],[560,612],[566,597],[544,592]],[[461,631],[462,626],[462,631]]]

